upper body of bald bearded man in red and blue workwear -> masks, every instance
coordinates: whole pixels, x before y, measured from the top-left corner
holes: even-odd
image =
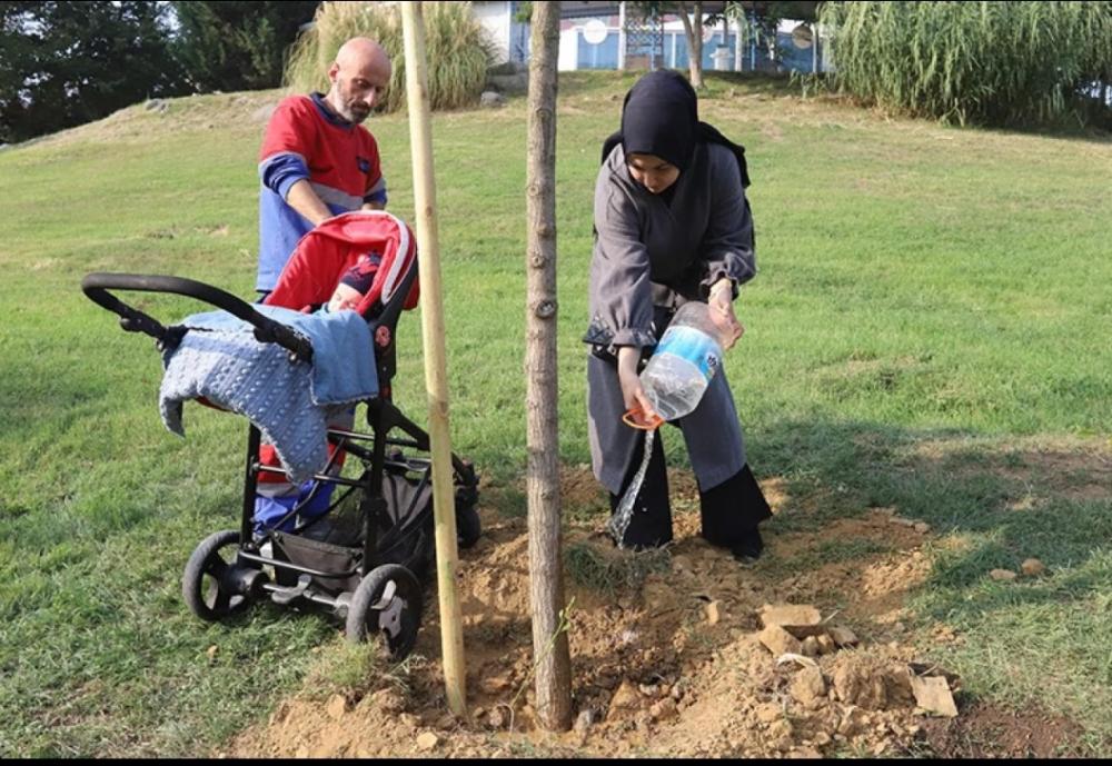
[[[259,151],[259,273],[274,289],[298,240],[326,218],[386,207],[375,137],[363,127],[390,82],[390,59],[353,38],[328,69],[328,93],[291,96],[275,109]]]

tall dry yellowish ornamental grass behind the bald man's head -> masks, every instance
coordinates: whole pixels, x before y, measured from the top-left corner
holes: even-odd
[[[376,40],[390,56],[394,71],[379,108],[396,111],[405,105],[406,63],[401,12],[396,4],[322,2],[314,26],[290,50],[286,86],[290,90],[328,91],[328,68],[336,51],[353,37]],[[425,44],[428,52],[429,98],[433,109],[475,105],[494,58],[493,46],[475,19],[469,2],[426,2]]]

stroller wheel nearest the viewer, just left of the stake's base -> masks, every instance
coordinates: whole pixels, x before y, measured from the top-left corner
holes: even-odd
[[[380,636],[390,659],[405,659],[417,643],[420,610],[420,583],[414,574],[397,564],[377,567],[363,578],[351,597],[347,639],[358,644]]]

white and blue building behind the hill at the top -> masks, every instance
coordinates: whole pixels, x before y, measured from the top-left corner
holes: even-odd
[[[704,2],[704,13],[721,13],[725,2]],[[722,20],[703,28],[703,68],[727,71],[825,71],[826,46],[810,19],[816,2],[797,2],[801,19],[782,21],[772,34],[758,30],[767,2],[742,3],[746,21]],[[473,2],[490,34],[496,63],[528,60],[529,26],[522,2]],[[683,20],[667,14],[644,20],[627,2],[562,3],[559,69],[684,69],[688,66]],[[783,3],[781,3],[783,6]],[[817,44],[816,41],[817,40]]]

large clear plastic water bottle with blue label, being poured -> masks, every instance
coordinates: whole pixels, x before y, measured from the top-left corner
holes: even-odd
[[[692,301],[676,311],[641,374],[645,396],[665,420],[689,415],[722,367],[721,330],[711,307]]]

